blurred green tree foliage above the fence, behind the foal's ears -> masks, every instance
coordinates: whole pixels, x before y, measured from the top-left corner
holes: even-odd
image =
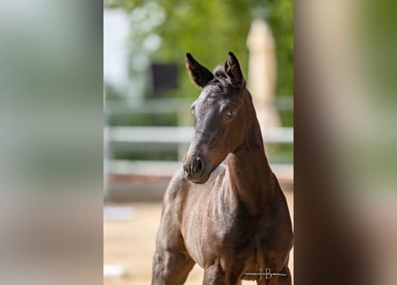
[[[185,69],[185,53],[189,52],[212,69],[223,64],[228,51],[236,53],[247,75],[246,37],[255,18],[268,20],[276,40],[277,94],[293,94],[294,89],[294,6],[292,0],[105,0],[107,8],[122,7],[136,12],[155,3],[165,13],[161,25],[152,28],[136,26],[132,20],[132,41],[145,43],[145,38],[160,36],[161,45],[151,51],[156,61],[175,61]],[[135,13],[137,14],[137,13]],[[136,43],[135,43],[136,46]],[[179,72],[179,97],[196,96],[186,72]]]

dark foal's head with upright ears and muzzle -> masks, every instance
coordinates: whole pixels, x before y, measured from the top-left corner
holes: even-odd
[[[205,183],[212,171],[244,142],[244,131],[249,118],[245,88],[240,64],[233,53],[228,53],[223,67],[212,73],[190,53],[186,53],[186,69],[194,85],[202,91],[191,106],[194,117],[194,138],[183,160],[186,179]]]

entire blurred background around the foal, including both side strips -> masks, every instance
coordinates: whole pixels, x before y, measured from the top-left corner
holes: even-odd
[[[290,2],[105,1],[105,11],[95,0],[0,4],[1,284],[148,283],[159,186],[186,147],[185,106],[199,93],[186,79],[185,53],[212,69],[232,50],[253,94],[247,42],[258,19],[277,60],[277,73],[267,73],[277,75],[268,110],[279,125],[265,128],[273,133],[265,140],[291,134],[294,74],[294,160],[291,137],[266,142],[279,177],[279,166],[294,164],[294,191],[283,184],[296,209],[294,283],[397,283],[396,1],[294,0],[294,73]],[[104,24],[110,18],[119,20]],[[121,60],[110,60],[109,48]],[[178,79],[149,84],[157,69]],[[160,150],[145,133],[112,130],[142,126],[187,128]],[[153,159],[167,163],[142,175]],[[152,202],[138,196],[150,192]],[[201,280],[194,274],[191,282]]]

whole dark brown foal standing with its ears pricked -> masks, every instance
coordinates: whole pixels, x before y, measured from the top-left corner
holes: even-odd
[[[236,56],[212,74],[187,53],[186,68],[203,91],[184,169],[164,196],[152,284],[183,284],[195,263],[203,284],[291,284],[291,219]],[[283,276],[246,274],[266,271]]]

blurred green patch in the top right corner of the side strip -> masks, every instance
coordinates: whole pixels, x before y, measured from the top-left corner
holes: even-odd
[[[360,6],[353,22],[363,82],[370,83],[366,88],[385,109],[395,108],[397,98],[396,12],[396,1],[368,1]]]

